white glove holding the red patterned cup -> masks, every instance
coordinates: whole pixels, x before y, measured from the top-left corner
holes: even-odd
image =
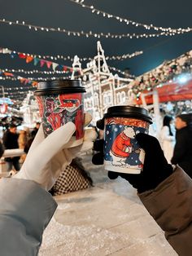
[[[89,114],[85,114],[85,125],[91,121]],[[50,190],[59,174],[68,166],[72,159],[93,148],[96,139],[94,130],[85,130],[84,142],[74,148],[65,148],[65,144],[71,139],[76,126],[72,122],[59,127],[49,136],[44,136],[40,126],[35,139],[28,151],[21,170],[13,179],[30,179]]]

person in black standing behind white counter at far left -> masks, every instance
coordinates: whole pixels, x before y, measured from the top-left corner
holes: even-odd
[[[11,124],[2,137],[2,143],[4,144],[5,149],[19,148],[18,138],[17,128],[14,124]],[[19,160],[20,157],[6,157],[5,161],[7,161],[8,166],[7,171],[11,171],[13,166],[15,170],[20,170]]]

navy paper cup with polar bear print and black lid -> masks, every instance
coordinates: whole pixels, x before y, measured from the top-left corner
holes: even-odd
[[[140,132],[148,133],[151,117],[145,115],[146,109],[142,110],[144,108],[131,106],[111,108],[113,112],[108,108],[109,112],[104,116],[104,168],[121,173],[139,174],[143,167],[145,152],[137,143],[135,135]],[[116,108],[118,113],[115,111]],[[129,113],[131,110],[135,112]],[[145,114],[139,113],[141,110]]]

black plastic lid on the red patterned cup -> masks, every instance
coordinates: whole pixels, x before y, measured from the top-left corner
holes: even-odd
[[[76,93],[85,92],[85,87],[81,85],[80,80],[47,80],[39,82],[35,95],[49,95],[56,93]]]

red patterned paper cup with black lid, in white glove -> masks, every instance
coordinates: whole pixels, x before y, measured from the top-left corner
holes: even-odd
[[[76,125],[76,132],[68,148],[81,144],[84,136],[85,88],[80,83],[78,80],[41,82],[35,91],[46,136],[68,121]]]

